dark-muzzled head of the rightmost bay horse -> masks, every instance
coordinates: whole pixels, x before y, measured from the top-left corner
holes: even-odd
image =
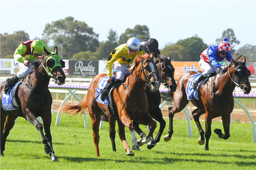
[[[233,66],[233,81],[243,90],[244,94],[249,94],[252,87],[249,82],[250,70],[245,66],[246,59],[243,62],[236,62],[232,59]]]

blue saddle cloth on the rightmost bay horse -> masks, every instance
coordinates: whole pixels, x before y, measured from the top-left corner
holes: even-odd
[[[199,88],[197,88],[197,90],[193,90],[192,89],[192,84],[194,83],[194,81],[197,81],[197,79],[199,78],[199,76],[201,75],[201,73],[198,73],[198,74],[194,74],[188,81],[188,84],[187,84],[187,87],[186,87],[186,91],[187,91],[187,99],[188,100],[194,100],[194,99],[197,99],[199,100],[198,98],[198,90]],[[198,84],[198,87],[201,85],[203,81],[199,82]]]

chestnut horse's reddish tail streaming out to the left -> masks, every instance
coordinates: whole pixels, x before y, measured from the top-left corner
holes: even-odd
[[[86,96],[84,96],[83,100],[75,105],[64,104],[64,106],[60,109],[60,112],[63,113],[72,113],[71,116],[76,115],[80,112],[80,115],[83,114],[83,110],[87,108]]]

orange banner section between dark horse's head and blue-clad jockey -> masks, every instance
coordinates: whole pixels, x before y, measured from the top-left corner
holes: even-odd
[[[178,80],[182,74],[188,71],[202,71],[198,65],[198,62],[172,62],[175,68],[174,79]]]

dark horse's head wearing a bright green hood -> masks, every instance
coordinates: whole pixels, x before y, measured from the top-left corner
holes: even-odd
[[[43,48],[46,54],[42,65],[44,66],[47,74],[52,77],[58,85],[65,84],[65,73],[62,68],[65,67],[65,62],[58,55],[58,48],[54,48],[54,52],[48,52],[45,47]]]

